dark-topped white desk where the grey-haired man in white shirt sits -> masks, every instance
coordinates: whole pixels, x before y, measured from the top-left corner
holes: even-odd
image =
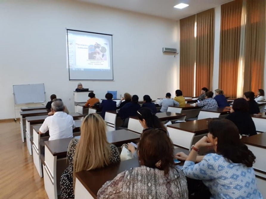
[[[73,136],[80,136],[80,126],[81,126],[82,120],[75,120],[76,127],[73,129]],[[39,129],[41,128],[40,125],[34,125],[32,126],[33,129],[33,139],[32,139],[32,156],[33,156],[33,162],[34,165],[39,173],[39,176],[43,177],[43,169],[42,169],[42,163],[41,163],[41,154],[43,153],[41,151],[41,140],[48,140],[49,139],[49,131],[47,131],[45,134],[38,134]]]

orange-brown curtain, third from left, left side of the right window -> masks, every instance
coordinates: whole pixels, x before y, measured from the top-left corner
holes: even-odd
[[[242,0],[221,6],[219,88],[237,97]]]

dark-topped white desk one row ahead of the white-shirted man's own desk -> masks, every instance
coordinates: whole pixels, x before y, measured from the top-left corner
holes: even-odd
[[[69,115],[71,115],[74,120],[83,120],[84,117],[80,113],[69,113]],[[48,117],[48,115],[26,117],[26,142],[30,155],[32,155],[32,145],[30,142],[30,138],[33,136],[32,126],[36,124],[42,124],[46,117]]]

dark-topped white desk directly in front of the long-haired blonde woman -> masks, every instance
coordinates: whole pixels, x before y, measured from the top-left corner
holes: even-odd
[[[127,142],[137,142],[140,135],[132,131],[117,130],[109,131],[107,140],[116,146]],[[80,137],[75,137],[79,139]],[[60,193],[59,182],[63,171],[66,169],[66,154],[69,142],[72,138],[45,141],[45,165],[43,169],[44,186],[49,199],[57,198]]]

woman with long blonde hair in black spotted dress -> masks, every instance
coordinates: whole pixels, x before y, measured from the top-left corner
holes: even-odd
[[[100,115],[87,115],[81,123],[80,131],[80,140],[71,140],[67,150],[69,166],[60,180],[62,199],[74,198],[76,172],[120,162],[116,146],[107,141],[105,121]]]

